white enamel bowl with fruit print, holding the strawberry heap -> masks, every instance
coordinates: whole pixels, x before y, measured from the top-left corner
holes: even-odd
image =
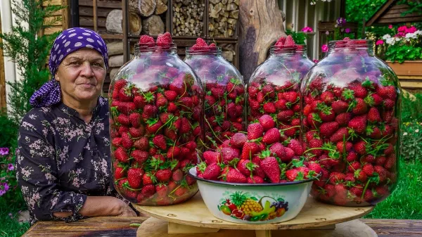
[[[271,224],[295,218],[316,180],[237,184],[200,178],[196,167],[188,175],[196,179],[204,203],[215,217],[240,224]]]

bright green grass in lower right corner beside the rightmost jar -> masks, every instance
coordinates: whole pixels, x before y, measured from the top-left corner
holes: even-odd
[[[422,219],[422,162],[400,162],[395,191],[364,218]]]

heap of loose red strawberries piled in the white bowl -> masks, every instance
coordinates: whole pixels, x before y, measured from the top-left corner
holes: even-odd
[[[196,167],[203,179],[230,183],[284,183],[309,179],[321,172],[317,162],[306,162],[301,143],[283,136],[269,115],[236,133],[216,150],[203,153]]]

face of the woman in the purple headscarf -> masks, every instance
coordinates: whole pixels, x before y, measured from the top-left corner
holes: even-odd
[[[63,99],[89,103],[101,94],[106,78],[106,65],[98,51],[79,49],[70,53],[58,66]]]

